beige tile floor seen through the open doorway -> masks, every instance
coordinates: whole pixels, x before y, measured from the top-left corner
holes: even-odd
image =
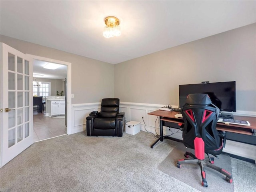
[[[33,141],[40,141],[56,136],[66,134],[65,118],[50,118],[45,114],[38,113],[36,110],[34,114],[34,139]]]

